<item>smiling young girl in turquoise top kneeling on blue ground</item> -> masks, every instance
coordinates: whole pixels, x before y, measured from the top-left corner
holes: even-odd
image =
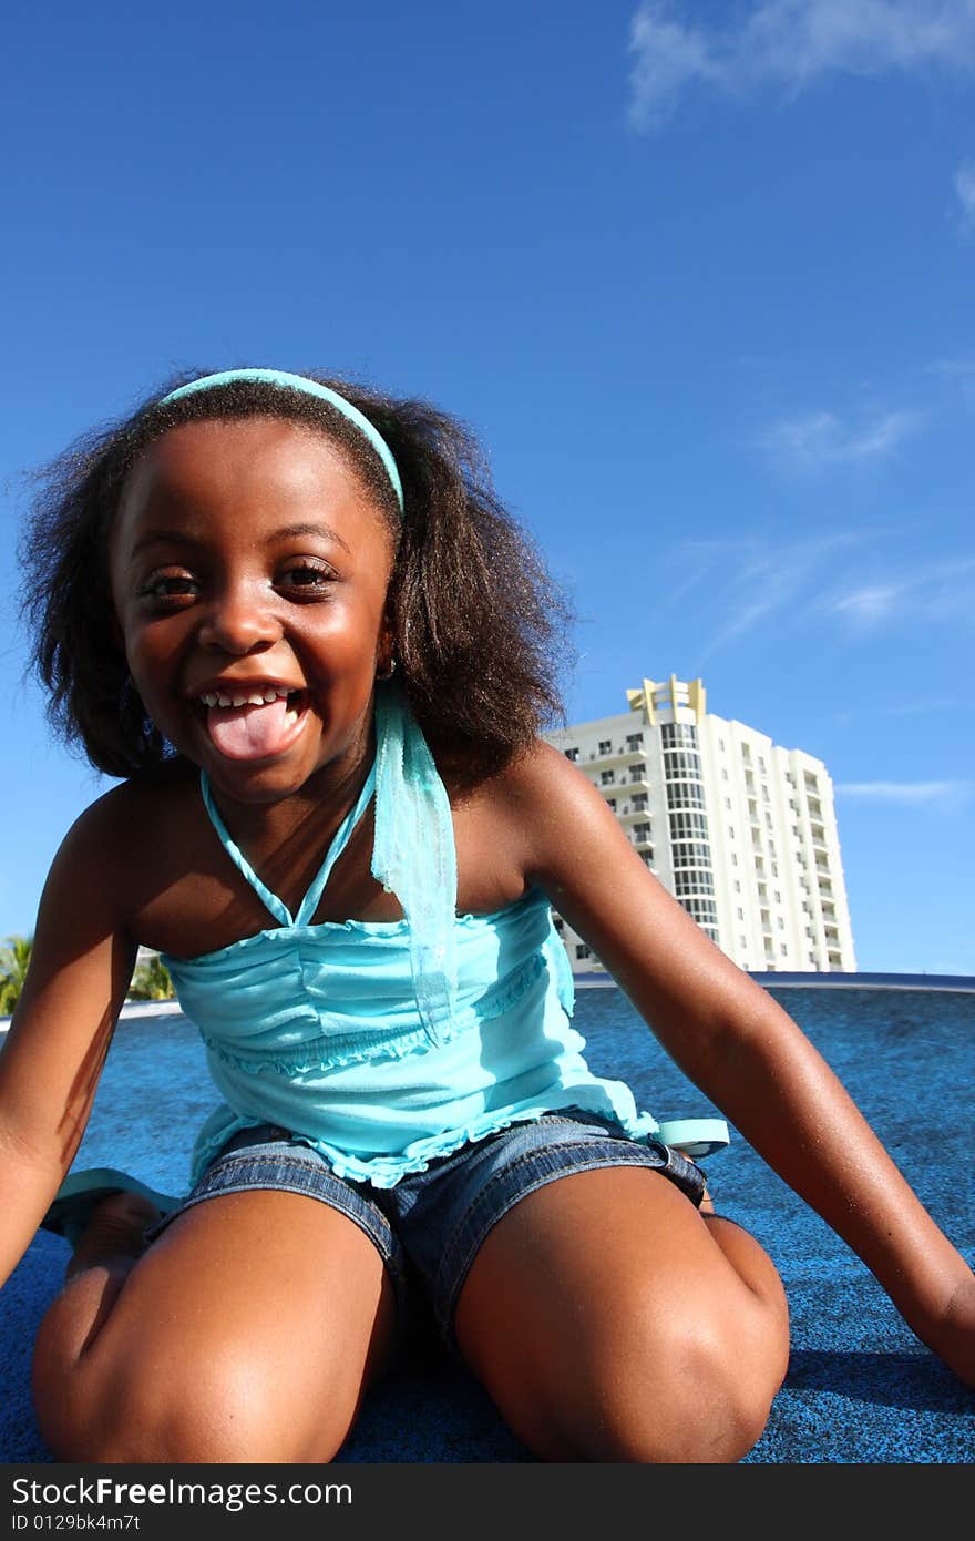
[[[750,1449],[778,1276],[587,1068],[550,905],[975,1382],[967,1264],[539,741],[551,596],[451,419],[188,381],[59,464],[28,561],[57,720],[122,778],[54,861],[0,1056],[0,1277],[46,1214],[75,1237],[34,1371],[59,1459],[328,1461],[416,1298],[541,1459]],[[223,1100],[185,1202],[75,1174],[49,1211],[140,943]]]

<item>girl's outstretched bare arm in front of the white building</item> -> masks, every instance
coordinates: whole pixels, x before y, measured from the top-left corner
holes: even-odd
[[[647,871],[591,783],[545,746],[511,775],[525,875],[585,937],[689,1079],[863,1257],[975,1385],[975,1277],[776,1002]],[[518,838],[518,837],[516,837]]]

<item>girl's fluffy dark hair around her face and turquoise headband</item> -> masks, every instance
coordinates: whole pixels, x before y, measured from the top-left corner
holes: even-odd
[[[157,775],[174,757],[129,678],[108,555],[126,479],[163,433],[203,419],[283,418],[325,433],[347,455],[390,525],[394,656],[407,698],[442,769],[474,786],[504,769],[550,721],[568,604],[534,544],[498,501],[470,430],[424,401],[393,399],[308,374],[364,413],[390,445],[404,512],[370,441],[330,402],[263,381],[163,398],[206,371],[156,390],[126,419],[92,431],[39,473],[22,539],[23,615],[32,666],[55,730],[112,777]]]

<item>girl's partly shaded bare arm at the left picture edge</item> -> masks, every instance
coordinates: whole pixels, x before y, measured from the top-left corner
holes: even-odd
[[[112,860],[117,795],[82,815],[54,860],[0,1051],[0,1284],[74,1160],[132,974]]]

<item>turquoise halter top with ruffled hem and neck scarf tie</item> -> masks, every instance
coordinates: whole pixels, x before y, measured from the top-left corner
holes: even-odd
[[[340,1177],[393,1187],[468,1140],[559,1108],[658,1133],[622,1082],[588,1069],[571,1026],[573,980],[544,894],[490,915],[456,914],[445,787],[391,689],[376,706],[376,763],[291,915],[202,792],[231,861],[276,925],[194,959],[165,955],[197,1025],[222,1105],[197,1139],[191,1180],[242,1128],[276,1123]],[[328,877],[374,797],[373,872],[397,922],[313,923]]]

